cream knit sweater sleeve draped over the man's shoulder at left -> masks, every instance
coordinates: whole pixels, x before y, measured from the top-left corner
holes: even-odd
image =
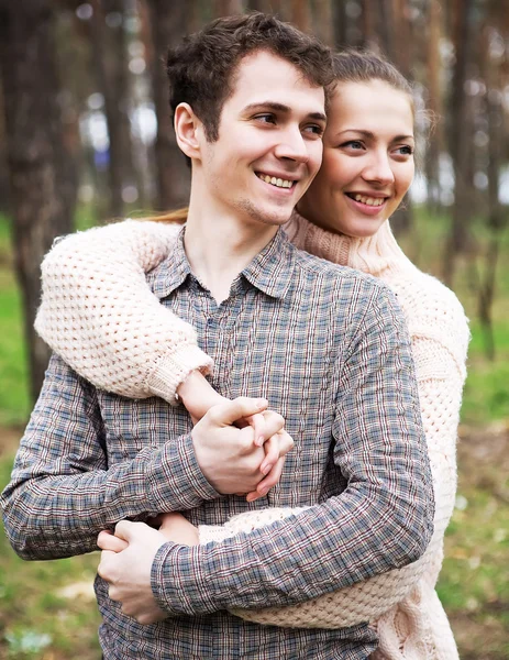
[[[193,328],[163,307],[145,280],[179,229],[126,220],[69,235],[46,255],[35,329],[97,387],[173,403],[191,371],[210,371]]]

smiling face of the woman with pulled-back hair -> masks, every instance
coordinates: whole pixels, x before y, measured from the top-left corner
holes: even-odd
[[[381,80],[340,82],[329,108],[322,166],[299,212],[335,233],[373,235],[412,182],[413,147],[407,94]]]

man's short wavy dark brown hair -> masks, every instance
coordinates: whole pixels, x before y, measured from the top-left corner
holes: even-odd
[[[253,12],[217,19],[200,32],[186,36],[168,52],[169,105],[189,103],[203,123],[207,140],[219,138],[224,102],[233,94],[241,59],[268,51],[296,66],[313,86],[332,81],[332,55],[328,46],[273,15]]]

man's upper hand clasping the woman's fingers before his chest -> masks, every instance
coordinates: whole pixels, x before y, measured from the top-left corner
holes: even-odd
[[[266,476],[261,468],[274,466],[291,449],[294,441],[285,433],[267,457],[257,446],[257,430],[251,426],[236,428],[234,422],[265,410],[265,399],[239,397],[213,406],[192,429],[191,437],[198,464],[212,486],[224,495],[254,492]],[[264,420],[265,437],[283,430],[285,420],[272,413]],[[281,449],[279,449],[279,447]]]

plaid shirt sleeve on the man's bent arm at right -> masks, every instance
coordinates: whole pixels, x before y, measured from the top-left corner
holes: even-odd
[[[168,613],[291,605],[423,554],[433,530],[430,465],[408,332],[385,287],[374,287],[350,337],[333,425],[347,487],[248,535],[163,546],[152,588]]]

